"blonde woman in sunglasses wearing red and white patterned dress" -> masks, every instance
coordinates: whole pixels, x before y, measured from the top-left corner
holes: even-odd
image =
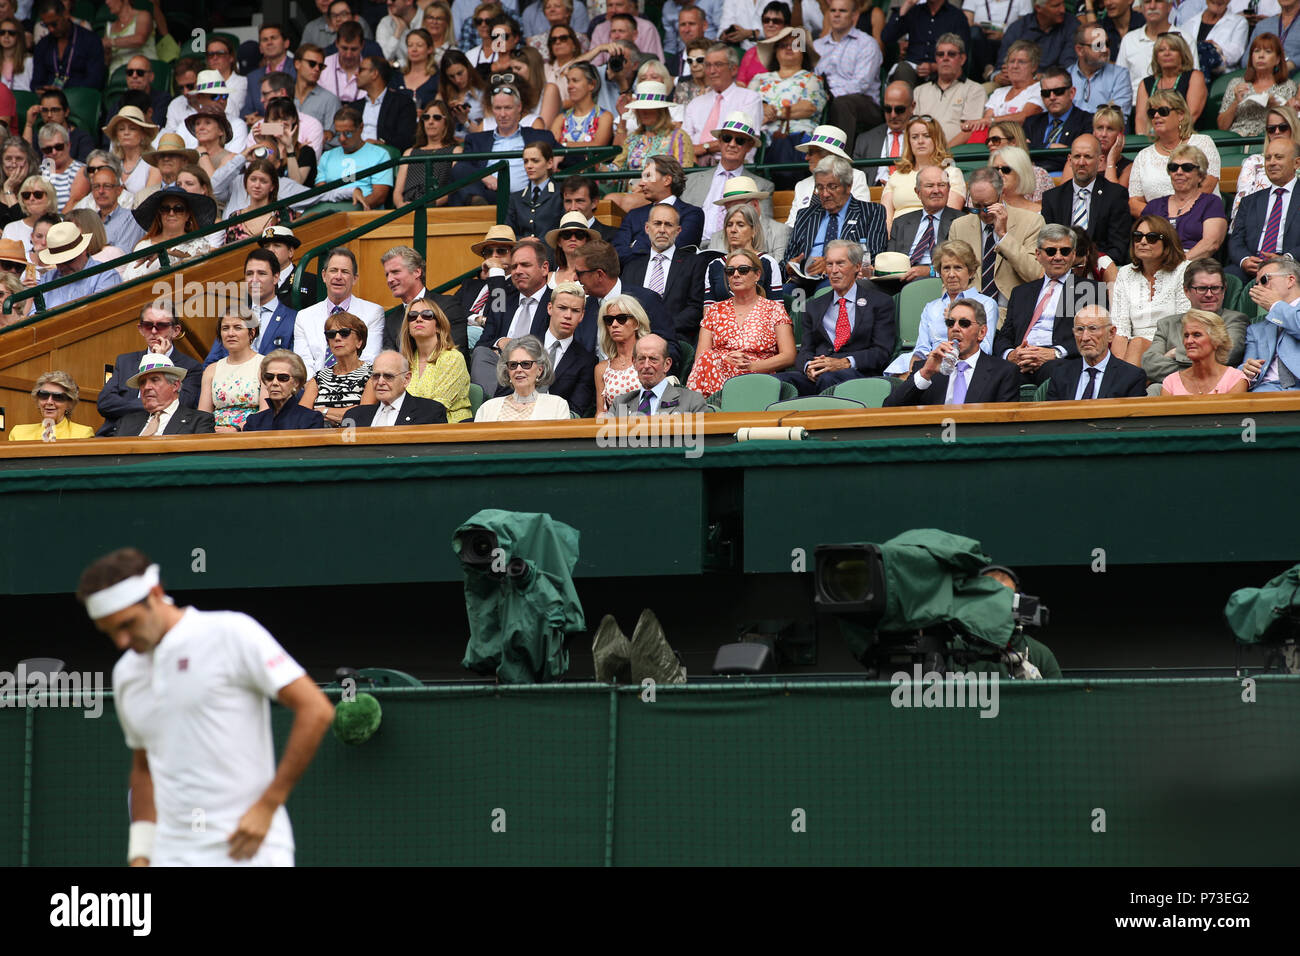
[[[794,328],[785,307],[758,287],[758,252],[727,256],[731,298],[705,308],[696,364],[686,388],[702,395],[722,392],[728,378],[750,372],[772,375],[794,364]]]

